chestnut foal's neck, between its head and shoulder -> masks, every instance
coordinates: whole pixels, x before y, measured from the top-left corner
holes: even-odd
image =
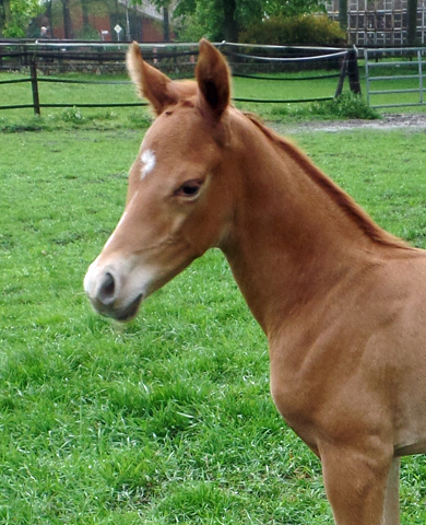
[[[376,250],[404,245],[294,145],[252,119],[239,126],[246,149],[238,173],[229,174],[239,178],[239,195],[222,248],[270,336],[296,310],[371,264]]]

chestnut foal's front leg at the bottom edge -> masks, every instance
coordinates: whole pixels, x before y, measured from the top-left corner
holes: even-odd
[[[386,501],[388,479],[391,471],[394,472],[392,462],[391,453],[367,454],[351,447],[322,447],[326,492],[336,525],[400,523],[399,516],[384,512],[386,506],[398,510],[398,503]],[[394,499],[394,491],[391,498]]]

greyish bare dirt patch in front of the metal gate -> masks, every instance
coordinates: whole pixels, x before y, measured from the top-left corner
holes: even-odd
[[[275,127],[275,126],[274,126]],[[397,129],[410,128],[415,131],[426,130],[426,113],[405,113],[383,114],[379,120],[331,120],[331,121],[309,121],[299,125],[280,125],[280,132],[298,131],[345,131],[351,129]]]

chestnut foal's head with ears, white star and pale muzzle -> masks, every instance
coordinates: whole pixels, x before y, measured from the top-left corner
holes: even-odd
[[[127,65],[156,119],[130,168],[125,212],[84,279],[93,306],[119,320],[218,245],[232,215],[223,168],[229,72],[222,55],[201,42],[197,82],[171,81],[142,59],[137,44]]]

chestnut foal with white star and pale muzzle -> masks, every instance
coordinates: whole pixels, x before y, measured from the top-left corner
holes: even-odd
[[[426,451],[426,252],[386,233],[295,145],[229,104],[229,70],[200,43],[196,82],[130,75],[156,119],[126,210],[88,268],[103,315],[221,248],[268,336],[271,392],[320,458],[338,525],[397,525],[400,456]]]

